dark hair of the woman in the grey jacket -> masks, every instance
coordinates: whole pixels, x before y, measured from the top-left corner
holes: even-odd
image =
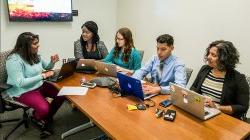
[[[81,29],[83,27],[86,27],[89,31],[91,31],[93,33],[92,44],[97,44],[97,42],[100,40],[100,37],[98,35],[98,26],[97,26],[97,24],[94,21],[87,21],[81,26]],[[87,42],[82,39],[82,35],[80,36],[80,42],[81,42],[81,45],[84,48],[83,50],[87,51],[86,48],[85,48]]]

